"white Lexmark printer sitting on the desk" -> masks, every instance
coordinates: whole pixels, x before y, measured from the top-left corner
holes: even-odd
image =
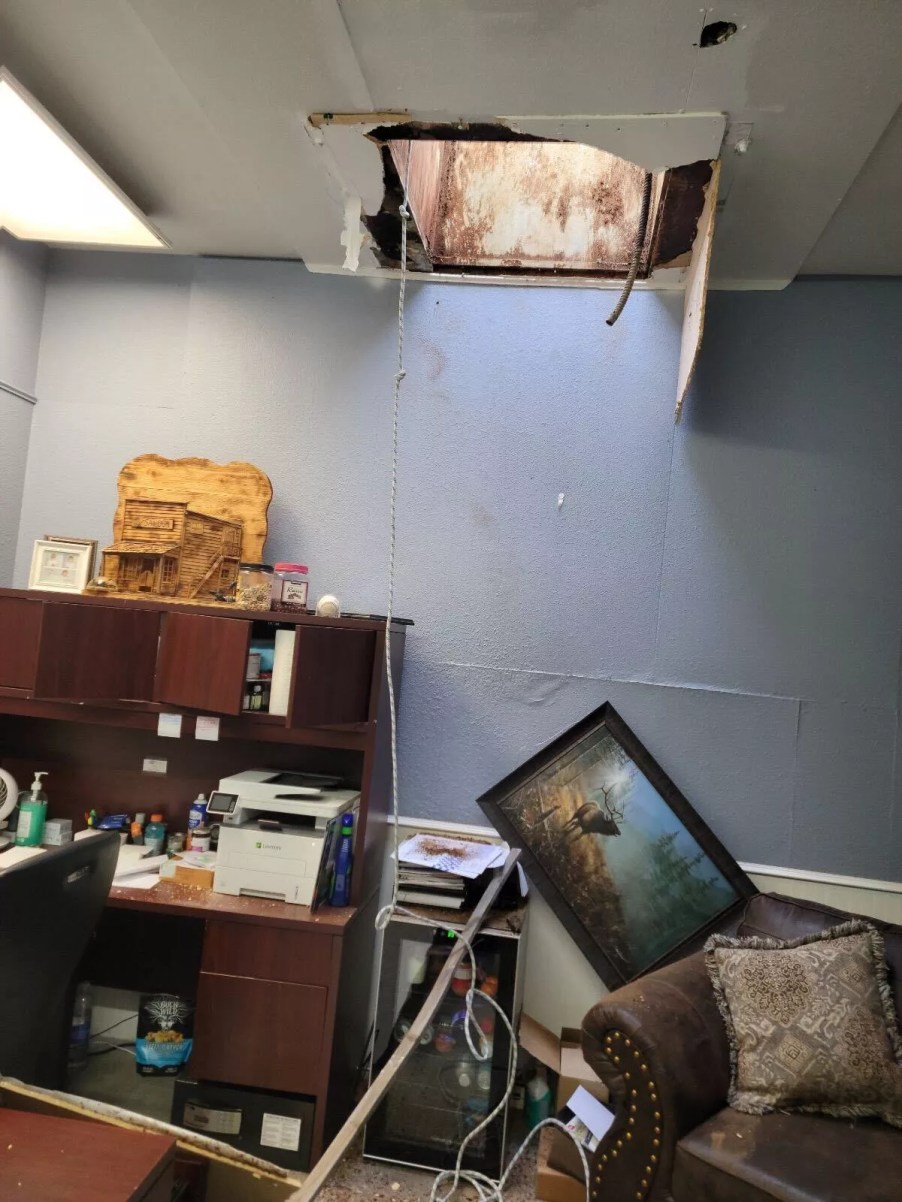
[[[213,889],[309,905],[326,827],[360,802],[358,792],[337,784],[334,776],[266,769],[220,780],[207,803],[209,820],[221,823]]]

